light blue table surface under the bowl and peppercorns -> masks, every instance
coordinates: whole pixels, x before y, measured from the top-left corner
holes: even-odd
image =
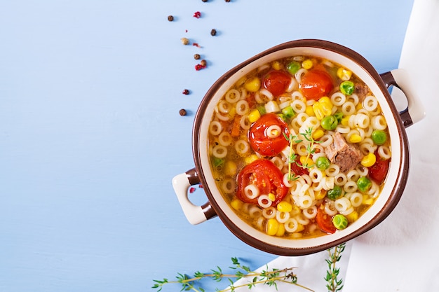
[[[228,69],[293,39],[395,69],[412,4],[1,1],[0,291],[151,291],[231,257],[252,268],[276,258],[219,218],[184,217],[171,180],[194,167],[198,104]],[[207,68],[194,69],[196,53]],[[191,198],[206,200],[199,188]]]

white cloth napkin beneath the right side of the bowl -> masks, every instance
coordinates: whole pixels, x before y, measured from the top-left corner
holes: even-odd
[[[410,74],[426,118],[407,129],[411,165],[400,203],[353,242],[345,292],[439,291],[438,0],[414,1],[399,67]]]

